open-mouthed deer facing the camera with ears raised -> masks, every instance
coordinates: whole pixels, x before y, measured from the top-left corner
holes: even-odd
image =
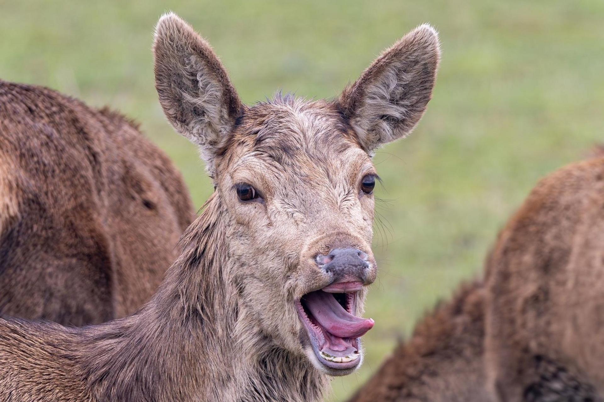
[[[83,328],[0,319],[11,401],[317,401],[363,360],[376,278],[371,155],[407,136],[440,59],[421,25],[332,100],[245,105],[176,14],[153,43],[159,102],[214,183],[181,254],[133,315]]]

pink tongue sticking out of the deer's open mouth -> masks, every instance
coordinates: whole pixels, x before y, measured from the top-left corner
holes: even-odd
[[[321,327],[339,338],[359,338],[373,327],[373,319],[350,314],[331,293],[310,292],[304,302]]]

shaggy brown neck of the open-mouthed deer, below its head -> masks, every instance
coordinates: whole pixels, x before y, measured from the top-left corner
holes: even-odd
[[[307,401],[326,384],[249,320],[230,280],[228,216],[213,195],[137,314],[88,333],[82,375],[100,401]],[[241,328],[245,325],[245,328]]]

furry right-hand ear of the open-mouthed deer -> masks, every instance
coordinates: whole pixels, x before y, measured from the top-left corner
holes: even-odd
[[[339,99],[368,151],[405,137],[432,97],[440,60],[439,37],[421,25],[382,53]]]

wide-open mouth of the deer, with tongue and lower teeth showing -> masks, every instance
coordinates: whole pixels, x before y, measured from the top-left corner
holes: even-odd
[[[331,369],[350,370],[361,362],[359,338],[374,322],[354,315],[359,289],[335,292],[338,290],[328,286],[310,292],[296,307],[319,362]]]

